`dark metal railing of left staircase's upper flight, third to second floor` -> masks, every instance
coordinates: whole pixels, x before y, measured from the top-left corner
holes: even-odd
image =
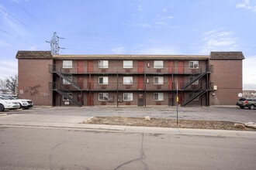
[[[76,80],[76,77],[73,76],[71,73],[61,73],[61,70],[58,71],[56,68],[56,65],[49,65],[49,72],[50,73],[57,73],[57,75],[61,76],[64,80],[66,80],[68,83],[70,83],[74,88],[81,90],[81,87],[78,86],[78,83],[74,83],[74,80]],[[70,77],[72,77],[70,79]]]

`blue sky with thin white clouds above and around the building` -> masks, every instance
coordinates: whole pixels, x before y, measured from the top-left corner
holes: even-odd
[[[0,78],[18,50],[60,54],[192,54],[242,51],[244,89],[256,90],[256,0],[0,0]]]

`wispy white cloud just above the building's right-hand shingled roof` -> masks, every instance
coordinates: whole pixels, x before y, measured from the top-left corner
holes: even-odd
[[[236,50],[237,37],[234,37],[234,32],[211,30],[202,34],[202,46],[199,53],[204,54],[216,50]]]

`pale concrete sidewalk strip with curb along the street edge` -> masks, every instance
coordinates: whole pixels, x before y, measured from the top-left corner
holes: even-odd
[[[107,124],[83,124],[83,123],[50,123],[50,122],[26,122],[26,121],[0,121],[0,127],[25,127],[25,128],[63,128],[79,131],[112,131],[126,133],[146,134],[176,134],[176,135],[199,135],[216,138],[254,138],[256,131],[227,131],[186,128],[151,128],[135,126],[117,126]]]

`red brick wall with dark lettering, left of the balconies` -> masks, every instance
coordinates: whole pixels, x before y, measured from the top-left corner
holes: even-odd
[[[34,105],[52,105],[52,92],[48,83],[52,82],[52,74],[48,65],[52,59],[19,59],[19,97],[33,100]]]

